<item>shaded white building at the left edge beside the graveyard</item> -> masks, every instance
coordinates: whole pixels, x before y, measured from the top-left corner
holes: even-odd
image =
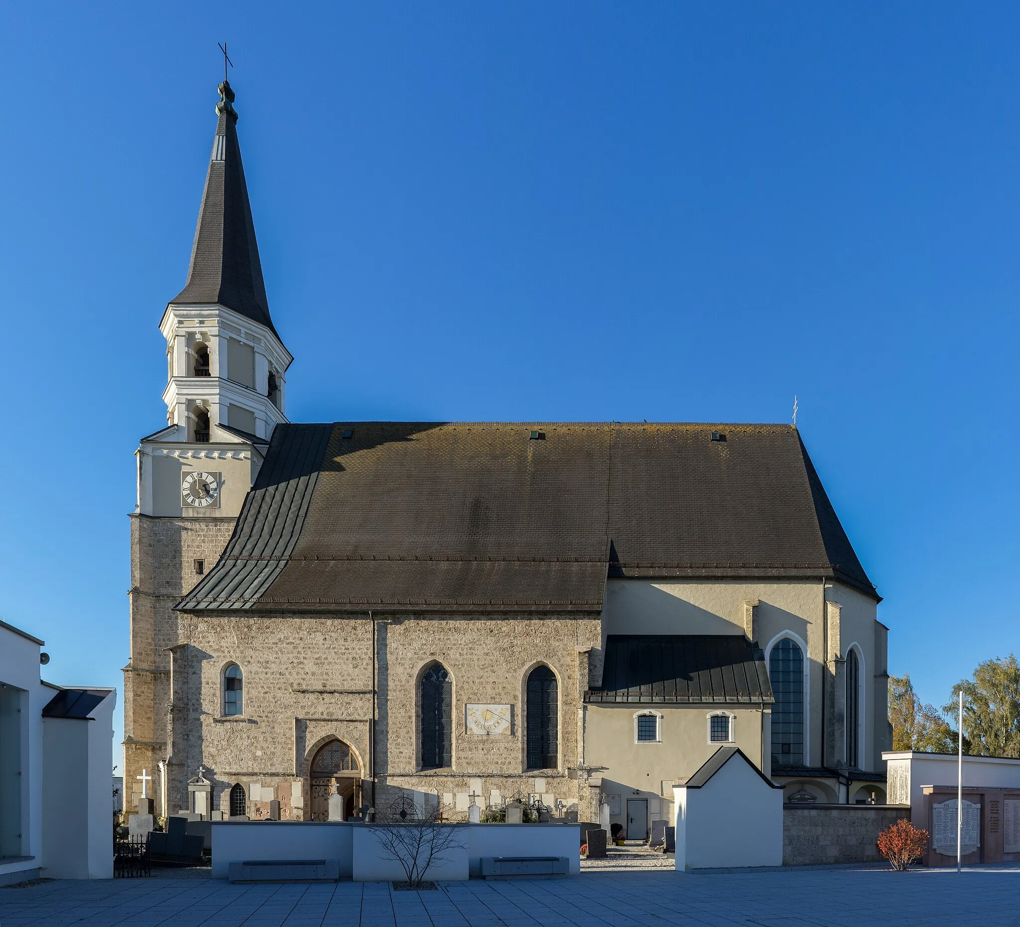
[[[0,622],[0,885],[113,876],[116,690],[44,682],[42,646]]]

